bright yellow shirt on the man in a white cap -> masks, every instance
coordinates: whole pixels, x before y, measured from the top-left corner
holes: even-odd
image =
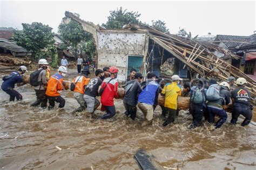
[[[165,94],[165,107],[177,110],[177,99],[181,96],[181,88],[176,82],[168,83],[164,86],[162,94]]]

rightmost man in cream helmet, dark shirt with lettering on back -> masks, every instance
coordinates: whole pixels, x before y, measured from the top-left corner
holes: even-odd
[[[241,126],[246,126],[252,119],[253,106],[251,105],[251,93],[245,89],[245,85],[247,84],[245,78],[238,78],[236,84],[238,86],[237,89],[231,92],[233,103],[231,124],[236,124],[239,115],[242,114],[245,119],[242,121]]]

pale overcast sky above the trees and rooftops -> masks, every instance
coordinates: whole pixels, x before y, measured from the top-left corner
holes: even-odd
[[[95,24],[107,21],[110,10],[120,6],[141,13],[140,21],[164,21],[171,33],[179,28],[192,36],[241,35],[256,30],[255,1],[11,1],[0,0],[0,27],[22,29],[22,23],[41,22],[57,32],[66,10]]]

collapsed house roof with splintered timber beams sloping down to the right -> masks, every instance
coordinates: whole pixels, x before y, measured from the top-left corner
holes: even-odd
[[[92,33],[97,46],[97,31],[105,30],[104,28],[93,23],[85,22],[68,11],[65,12],[65,16],[80,23],[84,31]],[[247,89],[251,90],[252,94],[256,95],[256,81],[248,77],[237,67],[226,63],[215,54],[216,52],[219,52],[223,53],[224,56],[230,56],[234,59],[240,58],[231,51],[223,49],[215,44],[198,42],[176,35],[169,35],[150,26],[128,24],[124,26],[124,29],[130,29],[131,31],[146,30],[150,39],[183,62],[190,71],[197,72],[201,76],[215,77],[221,81],[226,81],[231,75],[235,78],[244,77],[248,82]]]

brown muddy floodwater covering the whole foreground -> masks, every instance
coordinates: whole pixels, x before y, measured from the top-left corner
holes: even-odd
[[[30,85],[16,89],[23,95],[18,103],[0,91],[1,169],[139,169],[139,149],[163,169],[256,169],[256,126],[231,126],[230,114],[218,130],[207,130],[207,123],[187,130],[190,114],[180,111],[174,124],[163,127],[158,106],[153,125],[142,128],[142,112],[131,121],[120,99],[117,114],[100,120],[72,115],[78,104],[70,91],[62,93],[64,110],[48,111],[30,107],[36,99]]]

